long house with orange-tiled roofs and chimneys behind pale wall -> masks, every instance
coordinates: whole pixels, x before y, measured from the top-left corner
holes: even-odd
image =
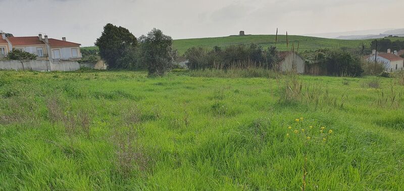
[[[81,59],[80,44],[48,38],[47,35],[28,37],[0,37],[0,56],[6,56],[13,49],[23,50],[37,55],[37,59],[44,60],[79,60]]]

